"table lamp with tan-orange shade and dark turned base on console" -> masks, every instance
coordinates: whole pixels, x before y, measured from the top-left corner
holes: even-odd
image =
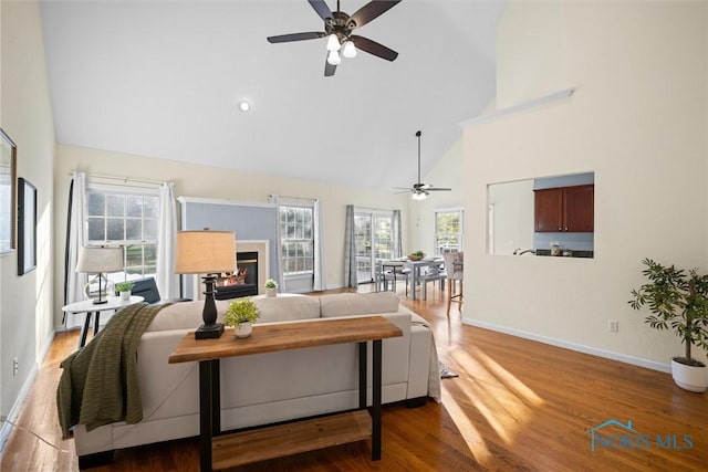
[[[179,231],[175,253],[175,273],[205,274],[206,285],[204,324],[195,333],[195,339],[220,337],[223,324],[217,323],[217,305],[214,284],[221,272],[236,269],[236,235],[230,231]]]

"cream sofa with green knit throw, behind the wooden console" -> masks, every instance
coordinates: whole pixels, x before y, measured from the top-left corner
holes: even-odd
[[[420,316],[399,304],[392,292],[323,296],[254,297],[258,324],[322,317],[382,314],[403,331],[383,342],[382,399],[421,405],[440,398],[438,360],[433,334]],[[217,301],[219,319],[231,301]],[[115,449],[199,434],[197,363],[168,364],[175,346],[201,324],[204,302],[163,308],[138,347],[143,420],[86,431],[74,427],[80,466],[105,461]],[[226,334],[225,334],[226,335]],[[235,343],[237,340],[235,339]],[[222,359],[221,429],[246,428],[356,408],[357,349],[343,344]],[[371,365],[371,349],[368,349]],[[368,368],[371,405],[371,367]]]

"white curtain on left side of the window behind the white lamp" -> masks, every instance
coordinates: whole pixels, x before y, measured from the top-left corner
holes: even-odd
[[[87,274],[76,272],[79,250],[86,243],[86,175],[73,172],[72,179],[71,213],[66,231],[66,304],[85,300],[84,285],[87,281]]]

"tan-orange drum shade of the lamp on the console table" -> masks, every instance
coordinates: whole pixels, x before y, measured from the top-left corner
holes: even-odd
[[[179,231],[175,273],[211,274],[236,269],[236,235],[230,231]]]

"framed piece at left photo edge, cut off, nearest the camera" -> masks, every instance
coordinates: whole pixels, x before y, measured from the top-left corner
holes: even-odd
[[[0,129],[0,255],[8,254],[15,248],[17,155],[17,146]]]

